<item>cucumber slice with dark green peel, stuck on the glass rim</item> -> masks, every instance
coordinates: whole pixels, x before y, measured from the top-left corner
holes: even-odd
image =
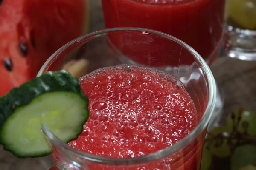
[[[17,157],[46,156],[51,151],[41,122],[68,143],[82,132],[87,107],[77,78],[49,71],[0,97],[0,144]]]

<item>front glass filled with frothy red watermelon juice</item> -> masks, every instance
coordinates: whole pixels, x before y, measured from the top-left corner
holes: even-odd
[[[124,48],[137,52],[138,58],[143,53],[152,56],[151,49],[159,48],[154,42],[163,41],[169,48],[159,48],[155,57],[194,62],[172,74],[140,65],[113,48],[110,38],[115,36],[145,43],[142,49],[134,48],[124,39]],[[149,57],[152,62],[154,57]],[[52,170],[200,169],[216,86],[207,63],[189,45],[154,30],[105,29],[64,45],[38,76],[61,69],[79,78],[90,116],[79,137],[68,144],[42,126],[56,163]]]

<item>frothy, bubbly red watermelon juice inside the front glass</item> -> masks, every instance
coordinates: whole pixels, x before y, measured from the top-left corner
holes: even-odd
[[[144,156],[179,142],[198,125],[195,104],[183,84],[156,69],[132,65],[101,68],[81,77],[80,82],[90,101],[90,117],[78,139],[69,145],[86,153],[111,158]],[[187,148],[189,154],[175,166],[199,169],[196,161],[201,146],[196,145]],[[167,170],[168,166],[153,163],[141,168]]]

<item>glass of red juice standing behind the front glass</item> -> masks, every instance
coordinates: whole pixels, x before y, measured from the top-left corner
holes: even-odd
[[[218,56],[224,33],[225,0],[102,0],[102,7],[106,28],[153,29],[186,42],[207,64]],[[113,42],[117,46],[120,43]],[[131,55],[129,51],[123,53]],[[169,62],[176,65],[179,58]],[[191,64],[193,60],[182,62]]]

